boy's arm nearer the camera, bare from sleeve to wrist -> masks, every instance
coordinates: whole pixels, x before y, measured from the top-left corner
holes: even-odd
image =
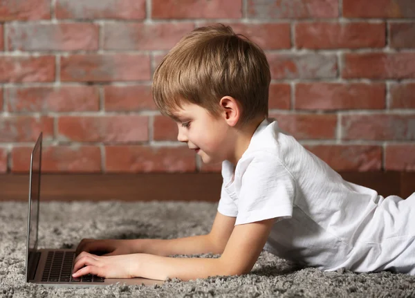
[[[250,272],[264,248],[275,218],[237,225],[219,259],[187,259],[138,254],[137,277],[183,281],[216,275],[241,275]]]

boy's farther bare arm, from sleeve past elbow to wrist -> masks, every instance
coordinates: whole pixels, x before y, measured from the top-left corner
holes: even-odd
[[[235,217],[216,213],[209,234],[178,239],[136,239],[135,250],[167,257],[172,254],[221,254],[235,224]]]

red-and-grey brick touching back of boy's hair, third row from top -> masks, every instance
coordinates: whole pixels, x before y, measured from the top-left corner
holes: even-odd
[[[317,79],[336,77],[337,57],[322,54],[268,53],[272,79]]]

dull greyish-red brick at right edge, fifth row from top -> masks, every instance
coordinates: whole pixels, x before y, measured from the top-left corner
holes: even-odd
[[[343,140],[415,140],[414,115],[344,115]]]

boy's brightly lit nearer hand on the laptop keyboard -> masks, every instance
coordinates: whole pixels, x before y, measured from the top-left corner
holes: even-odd
[[[138,267],[138,254],[124,254],[121,256],[100,257],[88,252],[81,252],[74,261],[73,277],[85,274],[98,275],[98,277],[132,278],[135,277],[134,268]],[[84,267],[85,266],[85,267]]]

